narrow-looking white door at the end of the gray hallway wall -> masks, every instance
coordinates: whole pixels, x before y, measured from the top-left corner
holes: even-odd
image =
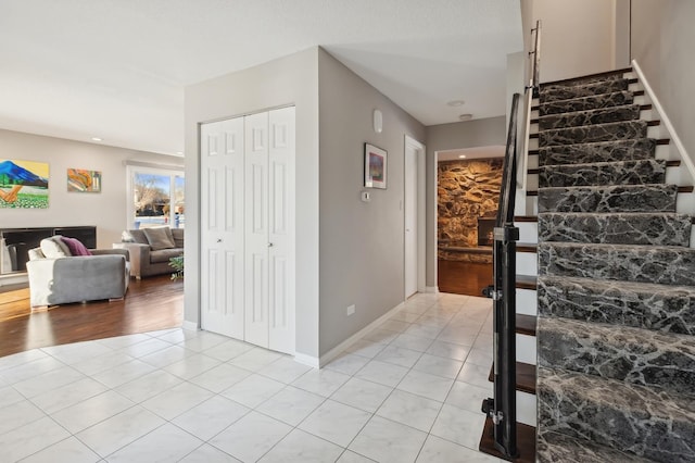
[[[405,298],[418,287],[418,151],[405,143]]]

